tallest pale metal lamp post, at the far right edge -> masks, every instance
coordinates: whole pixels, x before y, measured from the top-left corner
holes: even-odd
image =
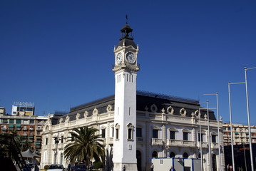
[[[245,92],[246,92],[246,106],[247,106],[247,120],[248,120],[248,130],[249,130],[249,140],[250,140],[250,158],[251,167],[254,170],[253,157],[252,157],[252,136],[251,136],[251,126],[250,126],[250,110],[249,110],[249,98],[248,98],[248,88],[247,88],[247,70],[256,69],[254,68],[244,68],[245,69]]]

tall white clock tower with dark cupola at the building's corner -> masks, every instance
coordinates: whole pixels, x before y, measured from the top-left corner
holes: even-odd
[[[121,29],[121,38],[114,48],[115,119],[113,137],[113,171],[137,170],[136,159],[136,80],[138,46],[128,24]]]

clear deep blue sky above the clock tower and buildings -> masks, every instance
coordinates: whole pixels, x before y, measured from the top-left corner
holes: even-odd
[[[113,95],[113,46],[126,23],[140,51],[138,90],[210,102],[229,121],[228,82],[256,67],[256,1],[0,1],[0,105],[36,115]],[[256,125],[256,69],[247,72]],[[233,123],[247,124],[245,85],[231,86]],[[203,104],[203,107],[206,107]]]

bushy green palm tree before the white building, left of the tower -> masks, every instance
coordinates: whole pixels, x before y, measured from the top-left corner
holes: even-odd
[[[88,163],[92,159],[101,159],[104,163],[105,148],[101,135],[96,135],[96,128],[73,128],[68,145],[64,148],[64,156],[67,162],[76,162],[76,160],[86,160]]]

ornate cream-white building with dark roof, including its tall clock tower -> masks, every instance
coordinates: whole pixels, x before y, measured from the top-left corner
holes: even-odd
[[[123,165],[129,171],[149,170],[152,157],[198,158],[200,147],[205,169],[221,167],[224,170],[222,126],[221,141],[218,142],[213,111],[207,113],[198,100],[136,89],[140,67],[137,63],[138,46],[130,36],[132,31],[128,24],[123,26],[122,37],[114,48],[115,95],[71,108],[70,113],[55,120],[48,118],[42,133],[41,166],[52,163],[68,165],[63,157],[68,132],[88,126],[99,130],[107,156],[113,156],[108,159],[106,170],[119,171]],[[220,156],[221,165],[217,162]]]

